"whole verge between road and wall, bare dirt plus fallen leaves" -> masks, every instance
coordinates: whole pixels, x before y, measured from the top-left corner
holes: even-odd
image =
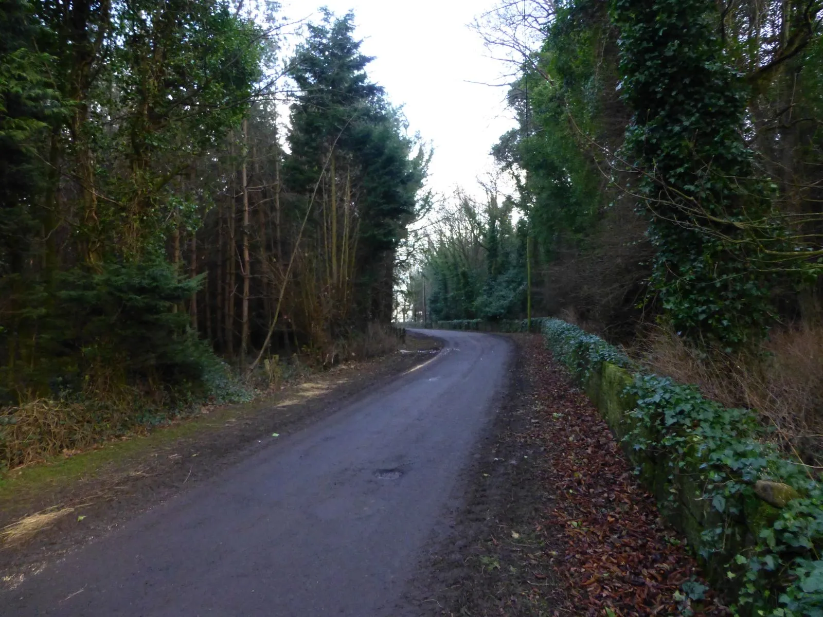
[[[414,615],[728,615],[542,337],[512,338],[509,394],[421,564]]]

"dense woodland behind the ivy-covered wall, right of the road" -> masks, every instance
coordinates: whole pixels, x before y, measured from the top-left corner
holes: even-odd
[[[482,16],[514,67],[518,126],[493,149],[514,189],[421,232],[410,314],[522,318],[530,295],[820,461],[821,15],[569,0]]]

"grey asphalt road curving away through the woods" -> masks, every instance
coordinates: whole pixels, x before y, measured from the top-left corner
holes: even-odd
[[[509,342],[436,333],[427,364],[70,554],[0,614],[399,615],[449,526]]]

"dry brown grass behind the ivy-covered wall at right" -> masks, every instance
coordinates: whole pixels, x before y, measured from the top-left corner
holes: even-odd
[[[706,397],[758,411],[781,448],[823,465],[823,327],[784,327],[735,355],[697,350],[653,327],[635,352],[655,372],[694,383]]]

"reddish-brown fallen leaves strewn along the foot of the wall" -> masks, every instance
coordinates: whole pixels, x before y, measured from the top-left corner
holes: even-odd
[[[517,438],[542,449],[543,484],[555,495],[535,530],[559,552],[555,614],[728,615],[542,337],[519,337],[518,346],[534,411]]]

